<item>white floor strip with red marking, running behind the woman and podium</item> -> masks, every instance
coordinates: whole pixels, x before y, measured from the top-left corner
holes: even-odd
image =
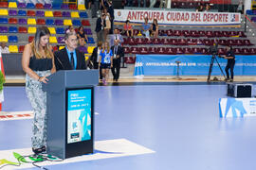
[[[30,116],[24,116],[20,117],[21,114],[30,114]],[[99,115],[100,113],[95,111],[95,115]],[[9,120],[25,120],[25,119],[32,119],[34,117],[34,113],[32,110],[26,110],[26,111],[0,111],[0,116],[13,116],[13,117],[7,117],[7,118],[1,118],[0,121],[9,121]]]

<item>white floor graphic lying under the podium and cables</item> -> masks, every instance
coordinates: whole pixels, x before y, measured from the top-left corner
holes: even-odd
[[[13,152],[19,153],[20,155],[32,154],[31,148],[0,150],[0,160],[6,159],[8,161],[17,162],[17,160],[13,157],[13,154],[12,154]],[[44,161],[37,164],[40,166],[46,166],[46,165],[64,164],[64,163],[77,162],[77,161],[94,161],[94,160],[127,157],[127,156],[150,154],[150,153],[155,153],[155,151],[147,147],[144,147],[142,145],[130,142],[126,139],[116,139],[116,140],[96,141],[94,154],[69,158],[64,161]],[[29,167],[34,167],[34,166],[31,163],[22,163],[22,165],[19,167],[9,165],[4,167],[4,169],[14,169],[14,168],[22,169],[22,168],[29,168]]]

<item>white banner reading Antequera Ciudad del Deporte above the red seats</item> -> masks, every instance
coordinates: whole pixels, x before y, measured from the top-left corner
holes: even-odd
[[[241,24],[240,13],[228,12],[191,12],[170,10],[130,10],[115,9],[115,22],[144,23],[144,18],[152,23],[154,19],[159,25],[172,26],[233,26]]]

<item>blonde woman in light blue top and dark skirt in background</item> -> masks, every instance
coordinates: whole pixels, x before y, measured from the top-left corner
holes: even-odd
[[[99,59],[99,66],[102,71],[102,82],[107,85],[109,69],[113,67],[113,52],[110,49],[109,42],[104,42]]]

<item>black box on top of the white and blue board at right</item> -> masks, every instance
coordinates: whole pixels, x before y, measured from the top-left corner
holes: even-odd
[[[228,83],[228,93],[232,97],[251,97],[252,84]]]

